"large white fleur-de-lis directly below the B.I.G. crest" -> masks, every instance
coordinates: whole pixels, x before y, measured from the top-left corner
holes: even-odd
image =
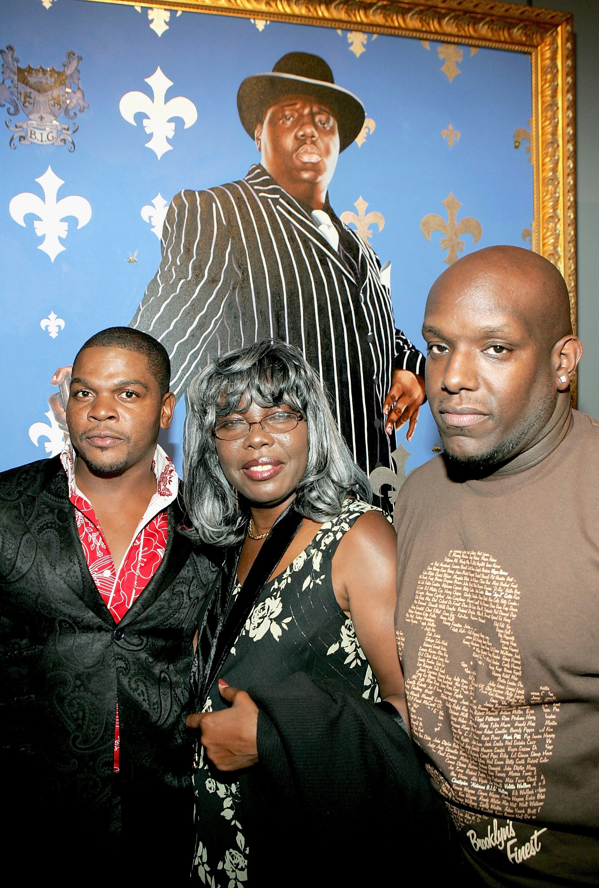
[[[38,237],[43,235],[43,243],[40,243],[38,250],[47,253],[53,262],[62,250],[66,250],[59,242],[59,237],[67,237],[68,223],[63,222],[67,216],[75,216],[77,220],[77,228],[82,228],[91,219],[90,202],[78,194],[69,194],[62,200],[56,200],[56,194],[64,181],[56,176],[51,167],[44,172],[43,176],[35,179],[36,182],[43,187],[43,197],[32,194],[30,191],[24,191],[22,194],[16,194],[8,205],[8,211],[12,218],[19,225],[25,227],[25,217],[28,213],[34,213],[39,216],[40,221],[35,220],[35,234]]]

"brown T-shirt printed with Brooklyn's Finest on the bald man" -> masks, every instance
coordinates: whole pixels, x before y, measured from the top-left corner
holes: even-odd
[[[599,423],[559,425],[485,480],[437,456],[396,505],[414,740],[485,884],[599,884]]]

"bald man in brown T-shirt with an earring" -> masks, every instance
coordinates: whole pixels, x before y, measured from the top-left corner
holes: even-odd
[[[599,884],[599,424],[571,409],[564,279],[472,253],[422,333],[445,452],[396,507],[414,739],[473,884]]]

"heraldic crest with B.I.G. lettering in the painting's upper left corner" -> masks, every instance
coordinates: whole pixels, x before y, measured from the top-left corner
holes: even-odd
[[[75,151],[72,137],[79,129],[74,123],[59,123],[57,118],[64,112],[65,117],[73,120],[76,112],[83,112],[90,107],[85,101],[83,90],[79,85],[78,56],[69,50],[67,60],[62,63],[62,70],[55,67],[19,67],[19,59],[14,54],[14,46],[0,50],[2,56],[2,82],[0,83],[0,107],[8,102],[8,113],[18,115],[20,108],[28,115],[28,120],[12,120],[5,122],[12,131],[10,145],[67,145],[69,151]]]

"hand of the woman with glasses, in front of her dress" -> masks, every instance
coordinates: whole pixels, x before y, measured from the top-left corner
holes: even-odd
[[[201,729],[201,745],[219,771],[240,771],[256,765],[258,708],[249,694],[218,679],[218,690],[233,706],[217,712],[194,712],[187,727]]]

